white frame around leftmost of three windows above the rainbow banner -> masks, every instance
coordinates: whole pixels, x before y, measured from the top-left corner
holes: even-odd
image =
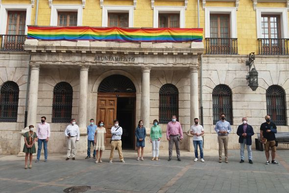
[[[50,26],[57,26],[59,11],[77,12],[77,26],[82,25],[82,5],[61,5],[61,4],[54,5],[52,4],[51,15],[50,15]]]

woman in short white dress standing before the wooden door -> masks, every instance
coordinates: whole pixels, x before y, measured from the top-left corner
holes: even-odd
[[[104,125],[103,121],[98,121],[95,133],[96,163],[102,162],[101,161],[102,151],[105,149],[104,142],[105,142],[106,129],[103,127],[103,125]]]

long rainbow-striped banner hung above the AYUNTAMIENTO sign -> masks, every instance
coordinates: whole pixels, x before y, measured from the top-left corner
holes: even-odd
[[[28,26],[28,39],[109,42],[201,42],[203,28],[120,28]]]

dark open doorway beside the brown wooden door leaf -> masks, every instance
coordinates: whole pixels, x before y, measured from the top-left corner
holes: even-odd
[[[135,97],[118,97],[117,119],[122,127],[122,148],[134,148]]]

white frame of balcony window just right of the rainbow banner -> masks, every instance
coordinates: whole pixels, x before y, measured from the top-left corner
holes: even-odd
[[[230,38],[237,38],[237,17],[236,7],[205,7],[205,38],[210,38],[210,15],[229,14],[230,15]]]

